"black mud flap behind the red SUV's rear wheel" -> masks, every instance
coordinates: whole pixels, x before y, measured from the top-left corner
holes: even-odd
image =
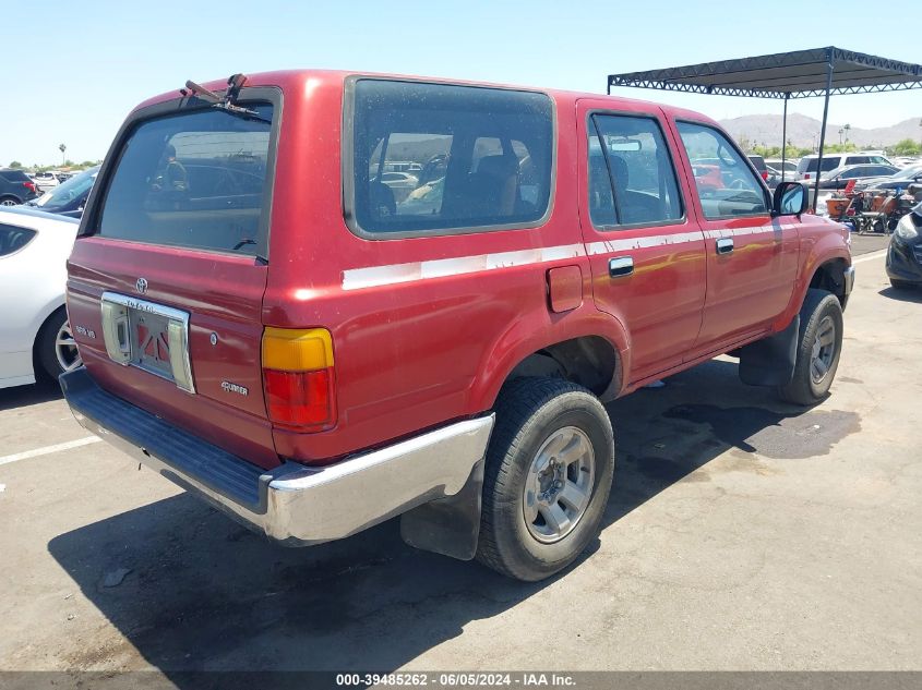
[[[423,504],[400,516],[400,536],[415,548],[470,560],[477,554],[480,536],[482,493],[481,459],[457,494]]]

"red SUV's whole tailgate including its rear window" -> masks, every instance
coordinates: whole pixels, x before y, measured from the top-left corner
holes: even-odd
[[[260,363],[271,101],[247,104],[259,117],[141,111],[99,175],[68,279],[103,388],[264,468],[279,462]]]

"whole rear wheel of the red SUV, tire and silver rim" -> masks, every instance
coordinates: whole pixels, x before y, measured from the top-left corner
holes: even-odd
[[[595,538],[614,473],[614,434],[591,392],[520,378],[496,403],[477,558],[517,580],[547,578]]]

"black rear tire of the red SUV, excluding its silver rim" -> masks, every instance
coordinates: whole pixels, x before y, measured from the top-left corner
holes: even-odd
[[[477,558],[511,578],[542,580],[572,564],[598,534],[614,474],[611,421],[596,396],[554,378],[514,379],[500,394],[495,412]],[[575,526],[559,541],[542,543],[526,523],[526,479],[543,444],[570,427],[580,432],[591,447],[591,493]]]

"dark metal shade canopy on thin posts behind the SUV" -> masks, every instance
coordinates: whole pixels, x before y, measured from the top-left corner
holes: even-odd
[[[829,96],[922,88],[922,65],[829,46],[681,68],[609,74],[609,94],[612,86],[783,99],[782,159],[787,145],[788,100],[824,96],[826,102],[823,108],[819,160],[816,167],[815,196],[818,196]],[[783,175],[783,170],[781,174]]]

